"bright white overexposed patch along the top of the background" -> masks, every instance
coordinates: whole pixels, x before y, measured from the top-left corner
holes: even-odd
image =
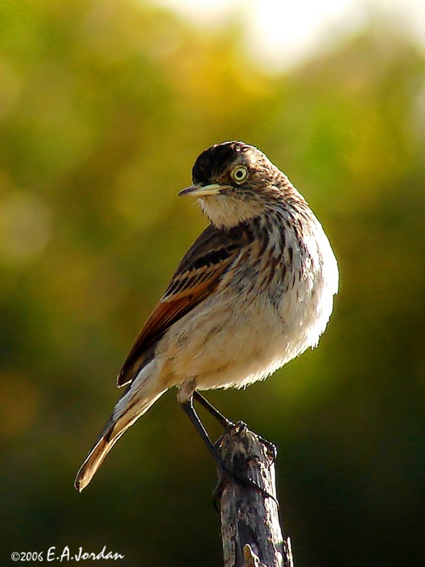
[[[154,0],[196,26],[227,22],[242,28],[254,62],[279,71],[356,33],[366,22],[396,20],[401,31],[425,47],[423,0]]]

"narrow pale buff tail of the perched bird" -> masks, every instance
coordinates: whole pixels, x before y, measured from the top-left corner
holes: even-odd
[[[74,483],[79,492],[89,484],[118,439],[166,391],[166,388],[159,388],[156,377],[152,376],[155,374],[152,373],[152,367],[149,368],[152,364],[153,361],[145,366],[128,391],[118,400],[111,419],[79,468]]]

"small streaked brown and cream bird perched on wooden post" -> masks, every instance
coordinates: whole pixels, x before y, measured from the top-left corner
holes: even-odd
[[[317,346],[339,286],[322,225],[288,177],[261,150],[226,141],[204,150],[193,184],[209,224],[183,256],[118,374],[127,386],[75,488],[89,484],[108,452],[169,388],[215,455],[193,407],[201,394],[244,388]]]

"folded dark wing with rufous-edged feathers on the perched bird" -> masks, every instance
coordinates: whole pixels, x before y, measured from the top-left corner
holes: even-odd
[[[118,386],[137,376],[164,332],[217,288],[222,274],[253,240],[246,223],[231,230],[219,230],[213,225],[205,228],[186,252],[164,296],[137,336],[118,375]]]

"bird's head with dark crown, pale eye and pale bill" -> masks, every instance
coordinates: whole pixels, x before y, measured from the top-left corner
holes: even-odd
[[[281,201],[288,178],[256,147],[223,142],[204,150],[192,170],[193,185],[179,194],[198,197],[218,228],[231,228]]]

